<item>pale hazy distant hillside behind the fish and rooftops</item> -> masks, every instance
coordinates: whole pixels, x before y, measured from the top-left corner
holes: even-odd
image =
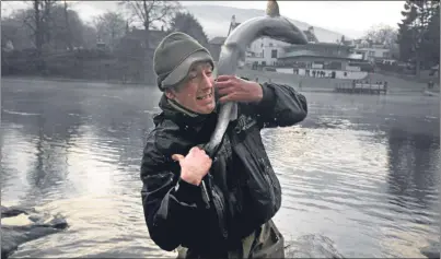
[[[212,4],[187,5],[185,9],[193,13],[200,22],[209,38],[213,38],[216,36],[227,36],[231,16],[233,14],[236,16],[236,22],[239,23],[252,17],[265,15],[264,10],[239,9]],[[290,19],[290,21],[300,30],[307,30],[307,27],[311,26],[310,24],[301,21],[292,19]],[[340,33],[315,26],[314,32],[318,40],[324,43],[335,43],[337,39],[340,39],[343,35]],[[347,36],[345,37],[348,39]]]

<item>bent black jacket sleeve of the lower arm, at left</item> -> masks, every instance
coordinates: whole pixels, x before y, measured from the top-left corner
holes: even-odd
[[[178,163],[160,151],[158,142],[164,140],[153,134],[148,138],[142,155],[142,207],[150,238],[161,249],[172,251],[185,235],[190,235],[185,225],[196,224],[193,221],[202,202],[201,190],[181,180]]]

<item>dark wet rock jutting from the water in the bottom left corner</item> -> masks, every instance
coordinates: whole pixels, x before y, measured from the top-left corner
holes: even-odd
[[[1,258],[8,258],[26,242],[68,227],[61,215],[38,213],[34,209],[1,207]]]

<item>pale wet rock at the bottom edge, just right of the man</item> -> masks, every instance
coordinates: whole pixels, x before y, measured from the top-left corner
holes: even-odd
[[[287,258],[344,258],[333,240],[322,235],[305,235],[286,246]]]

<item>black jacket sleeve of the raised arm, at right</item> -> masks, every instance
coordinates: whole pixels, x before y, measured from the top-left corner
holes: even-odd
[[[253,104],[253,113],[262,127],[293,126],[307,115],[306,98],[293,87],[283,84],[264,83],[263,99]]]

